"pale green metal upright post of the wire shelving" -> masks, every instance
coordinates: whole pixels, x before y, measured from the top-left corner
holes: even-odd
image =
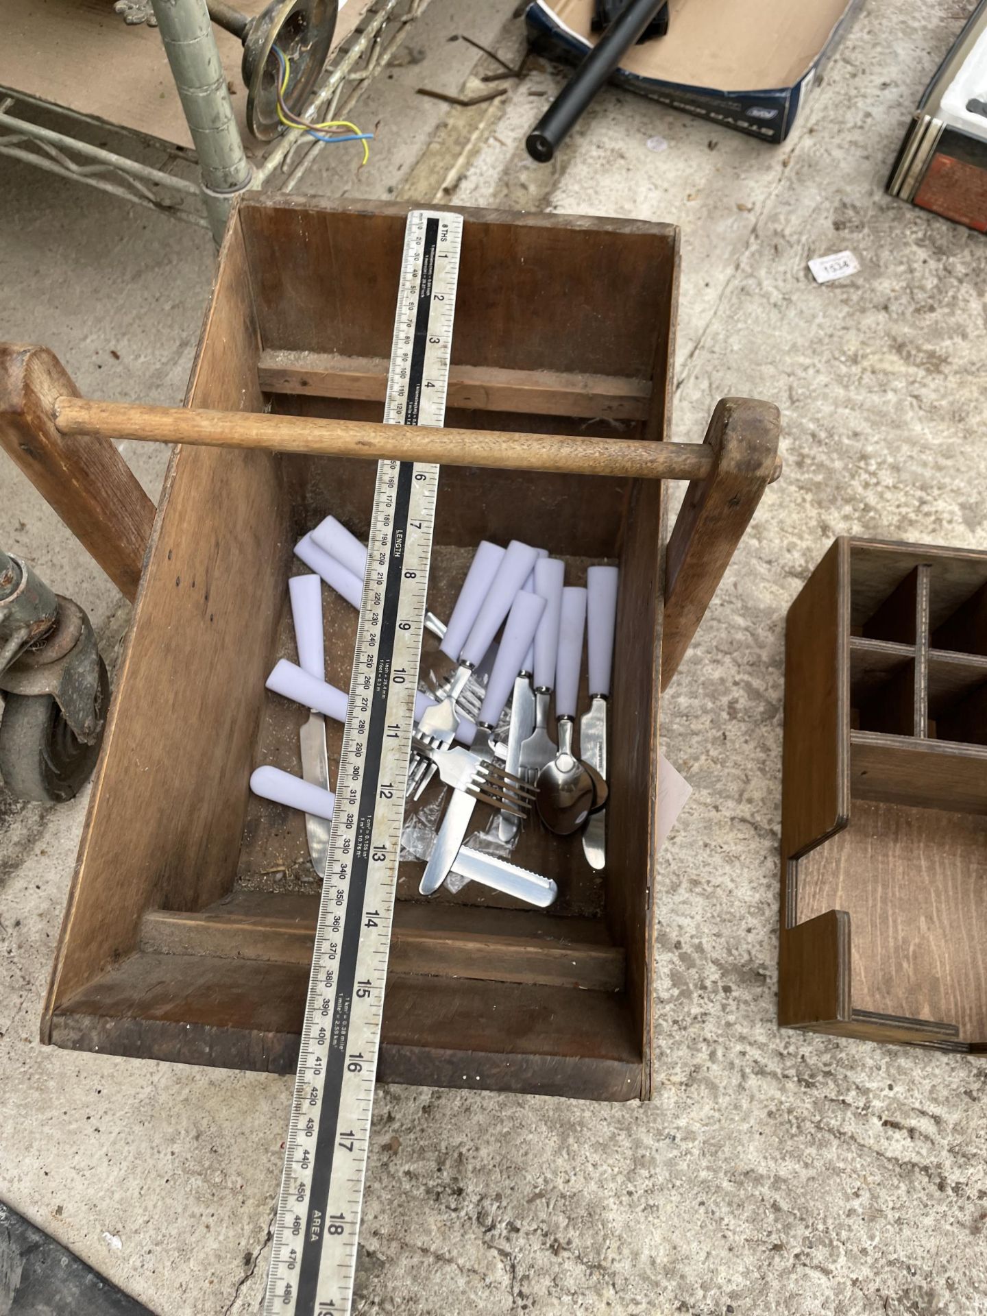
[[[251,168],[233,117],[212,20],[205,0],[151,0],[151,7],[199,155],[209,226],[218,242],[233,197],[251,186]]]

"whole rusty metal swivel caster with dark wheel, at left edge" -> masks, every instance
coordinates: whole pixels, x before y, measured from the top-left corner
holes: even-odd
[[[62,803],[99,758],[109,678],[83,609],[0,550],[0,778],[18,800]]]

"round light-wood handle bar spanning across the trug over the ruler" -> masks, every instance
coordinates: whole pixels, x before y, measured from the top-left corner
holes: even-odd
[[[132,438],[207,447],[265,447],[279,453],[437,462],[570,475],[632,475],[655,480],[703,480],[713,470],[708,443],[655,443],[633,438],[575,438],[500,430],[426,429],[374,421],[211,412],[58,397],[62,434]]]

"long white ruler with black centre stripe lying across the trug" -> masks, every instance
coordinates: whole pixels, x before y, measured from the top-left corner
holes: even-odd
[[[408,216],[388,424],[445,420],[462,224]],[[437,466],[378,463],[265,1316],[353,1302],[437,492]]]

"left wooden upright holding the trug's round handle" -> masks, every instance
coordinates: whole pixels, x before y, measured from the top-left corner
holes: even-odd
[[[0,445],[133,603],[154,503],[111,440],[59,434],[59,396],[79,393],[47,347],[0,343]]]

